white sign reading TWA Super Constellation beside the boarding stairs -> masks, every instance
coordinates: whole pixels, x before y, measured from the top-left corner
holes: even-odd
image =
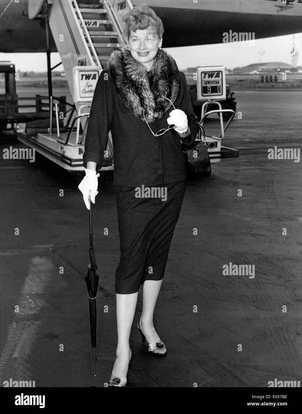
[[[97,66],[74,67],[74,89],[76,102],[92,101],[101,69]]]

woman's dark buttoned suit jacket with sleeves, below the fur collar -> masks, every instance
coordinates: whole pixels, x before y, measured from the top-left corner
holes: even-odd
[[[196,119],[185,75],[178,72],[180,85],[174,106],[186,113],[191,130],[188,137],[182,138],[173,129],[160,137],[154,137],[147,124],[136,118],[124,105],[107,70],[100,74],[88,121],[83,155],[85,168],[87,161],[95,161],[97,169],[101,168],[110,130],[114,151],[114,184],[155,186],[187,178],[181,140],[185,145],[192,144],[198,127],[194,123]],[[172,110],[171,106],[161,119],[150,124],[153,132],[168,127],[167,118]]]

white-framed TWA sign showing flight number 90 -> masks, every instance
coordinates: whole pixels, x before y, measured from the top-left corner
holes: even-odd
[[[197,101],[226,99],[226,68],[224,66],[197,67]]]

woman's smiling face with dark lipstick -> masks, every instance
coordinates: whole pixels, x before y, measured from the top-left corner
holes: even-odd
[[[131,55],[135,60],[142,63],[149,71],[154,63],[158,48],[162,46],[155,27],[130,31],[129,46]]]

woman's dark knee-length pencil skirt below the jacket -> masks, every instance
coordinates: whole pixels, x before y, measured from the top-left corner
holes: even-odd
[[[116,293],[136,293],[145,280],[164,278],[185,184],[183,180],[144,189],[114,185],[121,250],[115,272]],[[164,195],[166,191],[166,197],[150,197],[152,188],[157,188],[153,195]]]

